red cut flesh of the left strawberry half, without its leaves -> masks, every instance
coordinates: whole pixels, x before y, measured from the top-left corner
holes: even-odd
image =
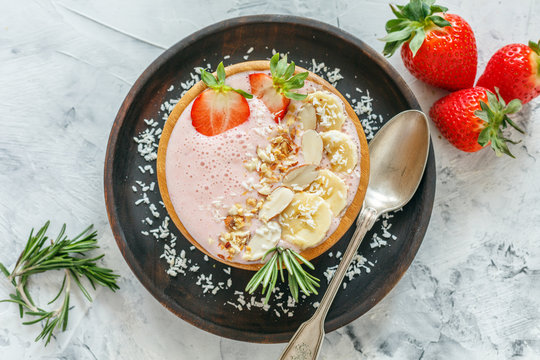
[[[191,123],[206,136],[221,134],[249,118],[246,99],[234,91],[204,90],[191,108]]]

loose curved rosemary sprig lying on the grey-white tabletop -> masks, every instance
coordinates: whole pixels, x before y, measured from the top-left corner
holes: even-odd
[[[68,324],[68,313],[70,310],[69,299],[71,292],[71,282],[73,281],[84,296],[92,301],[87,289],[81,283],[81,278],[86,278],[92,288],[99,284],[108,287],[112,291],[118,290],[116,279],[119,275],[112,270],[102,268],[97,265],[97,261],[105,255],[99,255],[92,258],[84,258],[85,253],[98,249],[97,232],[92,230],[92,226],[86,228],[73,239],[68,239],[64,235],[66,225],[56,237],[56,240],[50,241],[46,236],[49,228],[49,221],[34,235],[34,229],[30,232],[28,242],[22,251],[15,268],[9,272],[7,268],[0,263],[0,271],[8,278],[15,287],[15,293],[9,295],[9,299],[0,302],[12,302],[19,305],[19,314],[21,318],[26,314],[34,318],[23,322],[24,325],[32,325],[38,322],[44,322],[43,330],[35,341],[44,340],[45,346],[51,341],[55,329],[66,330]],[[56,302],[62,294],[63,301],[56,310],[45,310],[35,304],[28,291],[28,280],[31,275],[42,273],[48,270],[64,270],[64,280],[60,286],[58,294],[47,304]]]

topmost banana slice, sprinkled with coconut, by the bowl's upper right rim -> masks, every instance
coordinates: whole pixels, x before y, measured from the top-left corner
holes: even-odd
[[[328,91],[315,91],[306,100],[313,104],[317,113],[319,129],[340,130],[345,122],[345,113],[340,99]]]

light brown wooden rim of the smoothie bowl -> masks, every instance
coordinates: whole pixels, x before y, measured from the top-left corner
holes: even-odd
[[[230,66],[227,66],[225,68],[225,73],[227,76],[234,75],[241,72],[247,72],[247,71],[268,71],[270,70],[270,62],[268,60],[255,60],[255,61],[245,61],[241,63],[236,63]],[[304,72],[308,71],[304,68],[301,68],[299,66],[296,66],[295,73],[298,72]],[[348,206],[348,208],[345,211],[345,214],[343,214],[341,221],[336,228],[336,230],[322,243],[319,245],[308,248],[301,252],[301,255],[306,258],[307,260],[312,260],[316,258],[317,256],[322,255],[326,251],[328,251],[333,245],[335,245],[342,237],[345,235],[347,230],[354,224],[354,221],[356,220],[356,217],[358,216],[358,213],[360,212],[362,208],[362,204],[364,201],[364,197],[366,195],[367,186],[369,182],[369,150],[368,150],[368,144],[366,140],[366,136],[364,133],[364,129],[362,128],[362,125],[360,124],[360,120],[358,119],[358,116],[354,112],[353,108],[345,99],[345,97],[330,83],[328,83],[323,78],[319,77],[318,75],[310,72],[308,75],[307,80],[310,80],[318,85],[321,85],[324,90],[332,92],[334,95],[337,95],[341,101],[345,105],[345,111],[347,112],[347,115],[352,120],[356,132],[358,134],[358,139],[360,141],[360,162],[358,165],[360,165],[360,182],[358,184],[358,188],[356,190],[356,194],[353,198],[353,201]],[[205,89],[207,86],[202,82],[199,81],[196,83],[191,89],[188,90],[184,96],[178,101],[178,103],[174,106],[172,112],[170,113],[165,126],[163,127],[163,132],[161,133],[161,138],[158,145],[158,157],[157,157],[157,179],[158,179],[158,186],[159,191],[161,193],[161,197],[163,198],[163,203],[165,204],[165,208],[167,210],[167,213],[169,214],[171,220],[175,224],[175,226],[180,230],[182,235],[188,239],[188,241],[193,244],[197,249],[202,251],[204,254],[210,256],[211,258],[225,264],[228,266],[232,266],[239,269],[244,270],[251,270],[255,271],[261,268],[263,264],[261,263],[238,263],[233,262],[225,259],[221,259],[218,256],[215,256],[211,254],[209,251],[207,251],[204,246],[202,246],[196,239],[191,236],[189,231],[184,227],[184,224],[178,217],[178,214],[176,213],[176,210],[174,209],[174,206],[171,202],[169,191],[167,187],[167,181],[166,181],[166,156],[167,156],[167,147],[169,144],[169,139],[172,134],[172,131],[180,118],[181,114],[185,110],[185,108]],[[357,165],[357,166],[358,166]]]

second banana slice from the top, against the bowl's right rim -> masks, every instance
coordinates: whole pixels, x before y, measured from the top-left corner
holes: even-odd
[[[358,162],[358,149],[349,135],[338,130],[326,131],[320,135],[332,170],[351,173]]]

